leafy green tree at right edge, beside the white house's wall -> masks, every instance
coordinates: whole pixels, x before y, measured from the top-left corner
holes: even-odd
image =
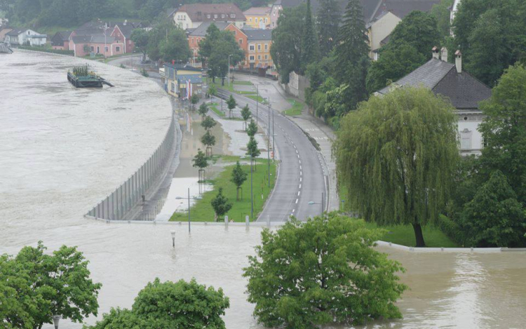
[[[501,170],[518,201],[526,205],[526,68],[510,67],[501,77],[492,97],[483,102],[485,119],[479,130],[485,147],[480,157],[485,180]]]

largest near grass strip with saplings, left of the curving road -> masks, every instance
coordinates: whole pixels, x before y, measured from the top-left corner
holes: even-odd
[[[227,214],[229,220],[234,222],[245,222],[245,215],[250,216],[250,165],[243,165],[243,170],[248,173],[247,180],[243,184],[243,200],[236,201],[236,185],[230,182],[232,169],[234,168],[235,161],[240,158],[238,156],[223,156],[221,161],[231,163],[230,166],[224,168],[224,170],[215,178],[211,180],[213,183],[213,191],[205,192],[203,199],[197,200],[194,206],[190,208],[190,217],[193,222],[213,222],[214,210],[210,204],[213,198],[217,195],[217,191],[220,187],[223,188],[223,193],[232,203],[232,208]],[[241,159],[248,161],[248,159]],[[271,163],[271,187],[268,187],[268,167],[267,159],[257,159],[257,167],[253,172],[253,191],[254,191],[254,220],[257,215],[262,211],[263,204],[269,197],[270,192],[274,188],[276,180],[276,164]],[[174,213],[170,218],[171,221],[186,221],[188,220],[188,213]]]

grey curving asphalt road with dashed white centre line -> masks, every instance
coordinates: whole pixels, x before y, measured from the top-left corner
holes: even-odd
[[[248,104],[252,116],[256,117],[257,113],[259,126],[267,131],[268,105],[258,105],[255,100],[227,90],[218,91],[222,98],[233,95],[239,107]],[[299,220],[320,215],[322,206],[325,205],[326,209],[327,204],[325,200],[322,201],[322,195],[325,199],[327,197],[328,170],[325,168],[325,162],[320,152],[295,123],[274,109],[270,109],[270,116],[272,112],[276,158],[280,163],[274,191],[257,220],[266,221],[270,218],[272,222],[283,222],[291,215]]]

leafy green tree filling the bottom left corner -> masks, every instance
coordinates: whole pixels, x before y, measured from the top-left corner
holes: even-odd
[[[82,253],[67,246],[52,255],[44,250],[39,242],[14,258],[0,257],[0,319],[11,328],[42,328],[54,315],[74,322],[97,315],[102,285],[89,278]]]

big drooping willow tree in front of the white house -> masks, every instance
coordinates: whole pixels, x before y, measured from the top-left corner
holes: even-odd
[[[351,205],[367,221],[412,224],[417,247],[425,246],[422,225],[448,199],[459,161],[453,110],[431,90],[398,88],[347,114],[334,145]]]

